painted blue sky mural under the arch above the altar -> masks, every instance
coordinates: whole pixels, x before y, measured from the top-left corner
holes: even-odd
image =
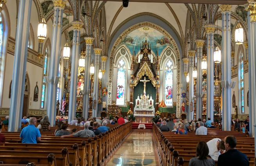
[[[142,42],[145,42],[146,37],[147,42],[151,44],[151,51],[153,51],[154,54],[156,54],[157,48],[159,53],[161,53],[166,46],[170,46],[174,49],[168,37],[149,26],[142,26],[136,30],[133,30],[125,36],[124,40],[120,43],[120,45],[125,44],[125,46],[129,48],[131,53],[133,47],[134,51],[138,52],[140,51],[140,44]]]

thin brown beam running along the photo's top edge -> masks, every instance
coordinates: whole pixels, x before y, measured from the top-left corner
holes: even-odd
[[[122,2],[122,0],[102,0]],[[179,4],[230,4],[244,5],[247,0],[129,0],[129,2],[156,2],[156,3],[179,3]]]

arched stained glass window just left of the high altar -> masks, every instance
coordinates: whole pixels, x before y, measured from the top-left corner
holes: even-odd
[[[126,67],[123,59],[119,61],[117,69],[116,105],[124,105]]]

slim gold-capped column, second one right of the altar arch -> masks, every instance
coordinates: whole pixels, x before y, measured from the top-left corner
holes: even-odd
[[[190,120],[194,119],[194,79],[193,79],[193,69],[194,69],[194,58],[195,58],[195,50],[189,50],[188,51],[188,58],[189,58],[189,85],[188,85],[188,91],[189,91],[189,110],[188,110],[188,122]],[[190,102],[192,102],[192,108],[190,108]],[[192,111],[190,111],[192,109]]]

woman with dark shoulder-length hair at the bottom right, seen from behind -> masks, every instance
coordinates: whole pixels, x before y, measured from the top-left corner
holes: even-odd
[[[208,158],[209,148],[204,141],[197,144],[195,157],[190,159],[188,166],[215,166],[215,161]]]

